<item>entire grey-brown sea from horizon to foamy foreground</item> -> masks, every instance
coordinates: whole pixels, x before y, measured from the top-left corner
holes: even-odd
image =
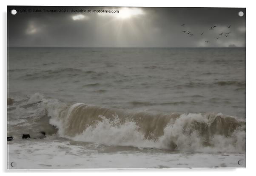
[[[7,54],[8,169],[245,168],[245,48]]]

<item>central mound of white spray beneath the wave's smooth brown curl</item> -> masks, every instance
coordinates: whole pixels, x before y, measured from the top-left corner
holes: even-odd
[[[71,139],[116,146],[156,147],[154,141],[144,139],[144,134],[139,132],[135,122],[120,124],[118,116],[114,121],[103,116],[101,118],[102,121],[98,121],[95,126],[88,126],[82,134]]]

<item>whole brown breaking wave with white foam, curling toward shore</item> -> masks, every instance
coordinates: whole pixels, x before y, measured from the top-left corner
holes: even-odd
[[[22,108],[41,109],[45,113],[42,117],[49,121],[40,123],[57,127],[60,137],[71,140],[174,151],[245,151],[245,121],[222,113],[154,113],[85,103],[69,105],[38,93],[27,103],[31,105],[20,106],[18,113]]]

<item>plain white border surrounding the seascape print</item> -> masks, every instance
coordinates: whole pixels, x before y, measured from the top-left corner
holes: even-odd
[[[155,169],[155,170],[76,170],[77,174],[86,174],[90,172],[90,174],[99,174],[104,172],[107,175],[119,175],[120,172],[124,175],[132,174],[142,174],[147,172],[147,175],[154,175],[156,173],[161,173],[165,175],[170,174],[178,174],[179,176],[188,175],[189,176],[200,176],[207,174],[208,176],[216,174],[232,174],[232,176],[241,176],[243,175],[253,175],[255,174],[254,165],[256,164],[255,160],[255,150],[256,150],[256,142],[255,142],[255,125],[256,125],[256,115],[255,115],[255,91],[256,91],[256,83],[255,83],[255,67],[256,67],[256,52],[255,50],[255,36],[256,36],[256,26],[255,26],[255,3],[253,0],[245,1],[245,0],[176,0],[176,1],[164,1],[164,0],[75,0],[75,1],[64,1],[64,0],[10,0],[3,2],[1,1],[1,104],[0,104],[0,118],[2,120],[2,135],[1,135],[1,171],[6,172],[6,5],[56,5],[56,6],[142,6],[142,7],[245,7],[246,8],[246,169]],[[195,161],[196,162],[196,161]],[[11,171],[15,174],[17,171]],[[34,172],[32,170],[31,172]],[[39,175],[45,175],[42,172],[65,172],[62,173],[64,175],[69,175],[70,172],[74,172],[74,170],[41,170]],[[8,171],[10,172],[10,171]],[[19,173],[19,175],[34,174],[34,173],[24,173],[26,170],[22,170],[23,173]],[[86,173],[81,173],[86,172]],[[48,173],[47,173],[48,174]],[[54,174],[54,173],[52,173]]]

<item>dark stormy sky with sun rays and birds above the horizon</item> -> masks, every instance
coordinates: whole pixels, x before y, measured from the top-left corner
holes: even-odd
[[[9,47],[245,47],[245,8],[8,6],[7,14]]]

